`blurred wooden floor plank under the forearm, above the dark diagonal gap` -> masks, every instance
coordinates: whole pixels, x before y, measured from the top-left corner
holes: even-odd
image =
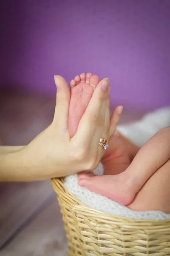
[[[0,184],[0,247],[51,194],[50,180]]]

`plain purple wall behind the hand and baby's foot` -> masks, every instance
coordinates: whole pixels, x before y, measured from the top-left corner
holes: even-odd
[[[0,6],[1,88],[56,93],[54,74],[109,77],[111,102],[170,105],[170,0],[14,0]]]

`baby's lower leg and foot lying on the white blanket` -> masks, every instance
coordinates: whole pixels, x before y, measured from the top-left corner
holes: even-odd
[[[79,176],[79,185],[105,195],[120,204],[129,205],[144,183],[170,158],[170,128],[153,136],[136,154],[130,166],[119,175]],[[165,166],[167,168],[167,165]],[[169,181],[170,183],[170,181]],[[143,186],[144,185],[144,186]],[[139,198],[139,194],[136,198]],[[133,203],[136,201],[133,201]],[[133,207],[133,205],[131,205]]]

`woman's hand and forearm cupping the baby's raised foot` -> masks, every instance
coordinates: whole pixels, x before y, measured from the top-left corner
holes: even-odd
[[[43,180],[98,166],[104,154],[99,140],[109,141],[119,122],[115,112],[110,119],[108,79],[97,85],[72,138],[68,130],[68,84],[61,76],[55,76],[55,82],[57,101],[53,122],[27,146],[3,154],[0,180]]]

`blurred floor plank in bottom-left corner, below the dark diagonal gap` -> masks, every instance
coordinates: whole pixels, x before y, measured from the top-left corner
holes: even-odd
[[[67,255],[67,239],[57,198],[0,251],[0,256]]]

